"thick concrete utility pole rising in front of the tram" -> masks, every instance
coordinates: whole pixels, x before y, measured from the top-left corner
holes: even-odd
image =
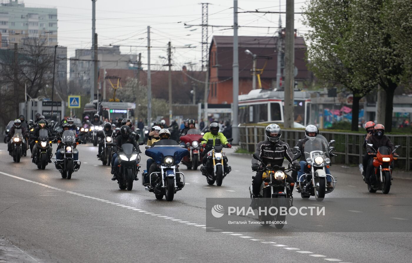
[[[286,42],[285,42],[285,110],[284,127],[293,128],[295,89],[295,32],[294,32],[294,1],[286,1]]]

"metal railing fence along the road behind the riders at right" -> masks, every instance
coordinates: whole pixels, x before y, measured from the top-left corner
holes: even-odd
[[[335,153],[332,163],[358,164],[362,163],[365,149],[363,149],[364,135],[362,133],[338,133],[322,131],[321,134],[328,140],[335,140]],[[265,126],[239,126],[239,145],[247,151],[254,152],[258,142],[265,140]],[[396,168],[410,171],[412,162],[412,135],[387,135],[394,145],[400,145],[396,150],[398,160],[394,162]],[[282,130],[282,139],[290,147],[304,138],[303,130]]]

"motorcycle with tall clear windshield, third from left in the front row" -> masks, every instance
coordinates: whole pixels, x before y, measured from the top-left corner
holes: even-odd
[[[81,164],[79,160],[74,159],[74,154],[79,152],[79,150],[75,148],[78,144],[76,143],[76,134],[73,130],[65,130],[61,135],[61,141],[59,140],[57,142],[63,143],[63,146],[59,149],[62,159],[57,160],[56,158],[52,158],[52,160],[55,161],[54,164],[56,165],[56,169],[61,173],[61,177],[71,179],[73,172],[77,172]]]

